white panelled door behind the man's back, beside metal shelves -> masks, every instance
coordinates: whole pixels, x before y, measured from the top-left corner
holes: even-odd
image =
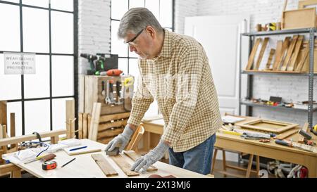
[[[209,58],[221,115],[239,113],[240,33],[247,32],[248,23],[249,15],[185,18],[185,34],[197,39]]]

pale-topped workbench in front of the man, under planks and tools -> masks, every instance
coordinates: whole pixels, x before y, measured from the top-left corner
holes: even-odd
[[[102,154],[108,160],[108,162],[113,166],[114,169],[118,172],[118,176],[111,177],[111,178],[118,178],[118,177],[128,177],[121,169],[116,165],[108,155],[105,154],[104,148],[106,145],[102,143],[98,143],[96,141],[91,141],[89,139],[82,139],[82,144],[86,146],[97,146],[101,148],[101,152],[97,153],[86,153],[81,155],[68,155],[65,151],[58,151],[54,153],[56,158],[54,160],[57,162],[57,168],[51,169],[49,171],[45,171],[42,169],[42,162],[35,161],[28,164],[20,163],[17,164],[18,167],[25,169],[30,174],[34,175],[35,177],[44,177],[44,178],[65,178],[65,177],[106,177],[105,174],[101,171],[97,163],[91,157],[92,154]],[[6,154],[9,155],[9,154]],[[4,156],[4,155],[3,155]],[[125,160],[132,165],[133,161],[128,158],[128,156],[123,155]],[[70,162],[65,167],[61,168],[61,165],[68,162],[69,160],[76,158],[73,162]],[[203,174],[198,174],[196,172],[192,172],[186,169],[181,169],[179,167],[175,167],[173,165],[168,165],[164,162],[156,162],[154,164],[155,167],[158,168],[156,172],[147,172],[146,174],[139,174],[139,178],[142,177],[149,177],[151,174],[159,174],[161,176],[166,176],[172,174],[174,177],[185,177],[185,178],[192,178],[192,177],[207,177]]]

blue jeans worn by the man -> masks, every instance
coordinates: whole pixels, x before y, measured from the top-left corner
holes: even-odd
[[[216,134],[213,134],[203,143],[188,151],[175,153],[173,148],[169,148],[169,163],[170,165],[200,174],[210,174],[211,162],[213,160],[213,145],[215,142]]]

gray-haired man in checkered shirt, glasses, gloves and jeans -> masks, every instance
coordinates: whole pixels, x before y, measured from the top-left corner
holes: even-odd
[[[163,135],[131,169],[146,172],[168,150],[171,165],[209,174],[221,118],[204,48],[192,37],[163,29],[147,8],[125,13],[118,37],[139,55],[140,75],[128,124],[106,151],[118,145],[123,151],[155,98],[166,124]]]

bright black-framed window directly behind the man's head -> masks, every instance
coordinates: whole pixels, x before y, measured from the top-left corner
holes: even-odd
[[[111,54],[118,54],[118,68],[125,74],[138,77],[137,54],[131,53],[128,46],[118,39],[117,32],[120,19],[130,8],[146,7],[159,20],[162,27],[174,31],[173,0],[112,0],[111,1]],[[136,85],[137,83],[135,83]],[[146,115],[157,115],[157,105],[152,103]]]

